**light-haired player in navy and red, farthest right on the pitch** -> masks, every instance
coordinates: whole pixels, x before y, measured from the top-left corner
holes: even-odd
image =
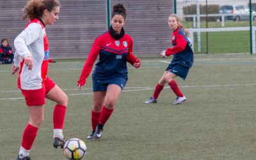
[[[188,38],[188,31],[184,29],[179,22],[179,17],[172,14],[169,16],[168,25],[172,29],[172,45],[166,51],[161,52],[161,56],[173,55],[173,60],[166,68],[163,76],[156,84],[154,95],[145,101],[146,104],[156,103],[159,94],[164,88],[164,84],[168,83],[170,88],[177,95],[173,104],[180,104],[186,100],[186,97],[180,91],[178,84],[174,81],[174,78],[179,76],[183,80],[186,79],[189,68],[193,65],[194,53],[191,48],[191,42]]]

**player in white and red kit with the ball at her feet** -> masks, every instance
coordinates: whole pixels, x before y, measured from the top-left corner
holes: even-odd
[[[30,19],[26,28],[15,38],[16,48],[12,72],[19,72],[18,87],[26,99],[29,122],[26,125],[19,156],[30,159],[29,152],[40,124],[44,121],[45,97],[56,102],[53,111],[53,146],[63,148],[63,125],[68,104],[67,95],[47,76],[49,45],[46,25],[58,20],[58,0],[31,0],[23,9],[23,19]]]

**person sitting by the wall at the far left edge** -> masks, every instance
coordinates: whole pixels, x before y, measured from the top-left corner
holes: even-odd
[[[1,45],[0,45],[0,64],[3,63],[12,63],[13,62],[13,52],[12,52],[12,47],[8,43],[7,38],[3,38],[1,40]]]

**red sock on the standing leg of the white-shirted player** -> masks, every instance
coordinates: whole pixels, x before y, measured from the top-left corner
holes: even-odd
[[[21,147],[30,150],[37,134],[38,128],[28,124],[23,132]]]

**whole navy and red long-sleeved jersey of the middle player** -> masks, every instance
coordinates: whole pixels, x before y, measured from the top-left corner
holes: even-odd
[[[89,76],[98,55],[99,61],[96,64],[93,77],[96,79],[109,79],[112,77],[124,77],[127,79],[127,61],[133,65],[138,60],[132,54],[132,45],[131,36],[125,33],[118,39],[113,38],[109,31],[100,35],[93,42],[78,83],[85,83],[85,79]]]

